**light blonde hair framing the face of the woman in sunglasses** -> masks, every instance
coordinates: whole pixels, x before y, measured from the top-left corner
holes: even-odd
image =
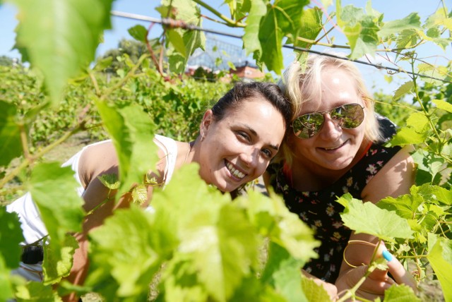
[[[333,56],[328,56],[332,54]],[[300,114],[303,104],[321,99],[322,73],[328,68],[338,68],[344,71],[355,82],[357,95],[364,101],[364,139],[376,142],[381,139],[379,123],[374,114],[374,101],[371,99],[364,80],[358,68],[352,61],[348,61],[341,54],[328,53],[326,55],[310,55],[306,66],[294,61],[285,70],[283,78],[278,85],[289,99],[292,106],[292,121]],[[344,59],[340,59],[344,58]],[[287,164],[292,163],[292,150],[287,146],[287,140],[283,144],[283,156]]]

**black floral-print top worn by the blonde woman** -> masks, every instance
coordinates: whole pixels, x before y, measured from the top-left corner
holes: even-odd
[[[383,131],[385,135],[393,134],[393,131],[386,131]],[[390,137],[386,136],[385,140]],[[314,237],[321,241],[321,246],[316,249],[319,258],[311,259],[304,270],[326,282],[335,282],[343,260],[343,250],[351,234],[340,218],[344,207],[335,200],[345,193],[361,199],[362,189],[399,150],[400,147],[383,147],[383,142],[374,143],[352,169],[321,191],[300,192],[291,188],[283,164],[270,164],[267,172],[270,174],[271,186],[276,193],[283,195],[290,212],[299,215],[303,222],[314,229]]]

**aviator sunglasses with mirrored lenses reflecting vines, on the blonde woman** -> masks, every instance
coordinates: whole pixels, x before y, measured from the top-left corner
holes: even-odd
[[[360,104],[345,104],[326,111],[303,114],[292,123],[297,138],[312,138],[319,133],[325,122],[325,114],[329,114],[336,125],[345,129],[357,128],[364,121],[364,107]]]

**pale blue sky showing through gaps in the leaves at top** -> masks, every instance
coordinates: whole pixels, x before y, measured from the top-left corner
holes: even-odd
[[[318,0],[319,1],[319,0]],[[123,11],[127,13],[137,13],[144,16],[150,16],[154,18],[159,18],[160,16],[155,11],[155,6],[157,6],[157,0],[117,0],[114,1],[113,10]],[[216,3],[220,4],[222,1],[216,0]],[[334,2],[334,1],[333,1]],[[452,8],[452,0],[444,0],[448,11]],[[343,6],[347,4],[353,4],[357,7],[364,7],[366,1],[364,0],[343,0]],[[216,4],[211,4],[213,7]],[[440,0],[374,0],[372,2],[372,7],[384,14],[383,20],[395,20],[404,18],[408,16],[411,12],[419,13],[422,20],[425,20],[427,16],[431,15],[436,11],[437,8],[441,6]],[[225,13],[227,13],[227,8],[223,6]],[[11,50],[14,45],[14,28],[17,25],[17,20],[15,18],[16,8],[11,4],[0,4],[0,56],[7,55],[11,57],[19,57],[16,50]],[[143,24],[146,27],[149,23],[138,22],[136,20],[129,20],[125,18],[112,17],[112,30],[107,30],[104,36],[104,43],[100,44],[97,49],[97,54],[103,54],[108,49],[117,47],[117,44],[121,38],[130,39],[127,30],[133,25]],[[218,28],[215,23],[205,21],[203,23],[205,28],[210,28],[214,30],[225,31],[225,28]],[[155,25],[153,31],[156,34],[160,34],[160,26]],[[240,35],[239,30],[227,29],[228,32],[236,33]],[[225,40],[225,42],[230,42],[232,44],[242,45],[242,41],[232,38],[218,37],[219,40]],[[345,44],[344,40],[336,40],[336,44]],[[321,47],[317,48],[323,50]],[[420,50],[420,56],[429,57],[429,61],[432,63],[438,62],[439,64],[446,64],[447,61],[452,59],[452,49],[451,46],[447,47],[446,52],[436,46],[425,47]],[[285,50],[285,65],[292,61],[292,52]],[[432,57],[435,56],[435,57]],[[442,56],[442,58],[441,58]],[[447,59],[444,59],[446,57]],[[387,63],[384,63],[388,66]],[[406,75],[394,75],[393,83],[388,84],[383,80],[384,71],[379,71],[373,67],[366,67],[359,65],[360,70],[366,80],[367,86],[371,90],[383,90],[384,92],[390,94],[397,89],[400,83],[404,83],[409,80]]]

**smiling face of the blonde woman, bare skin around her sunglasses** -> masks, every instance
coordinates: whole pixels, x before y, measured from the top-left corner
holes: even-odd
[[[354,81],[346,72],[331,67],[323,70],[321,77],[321,98],[318,102],[304,104],[300,115],[326,111],[343,104],[357,103],[364,106]],[[329,114],[323,116],[323,126],[313,137],[299,139],[292,133],[290,141],[294,148],[294,158],[309,165],[311,169],[345,169],[352,163],[362,145],[365,123],[357,128],[345,129],[332,121]]]

